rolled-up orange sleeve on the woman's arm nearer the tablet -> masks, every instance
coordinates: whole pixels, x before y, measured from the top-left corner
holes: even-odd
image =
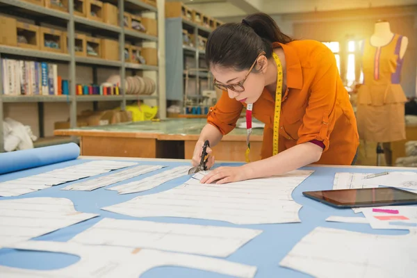
[[[323,152],[329,149],[330,133],[336,122],[334,108],[339,88],[340,76],[336,58],[330,49],[320,51],[316,56],[316,74],[311,83],[309,101],[302,125],[298,130],[297,144],[318,140],[325,145]]]

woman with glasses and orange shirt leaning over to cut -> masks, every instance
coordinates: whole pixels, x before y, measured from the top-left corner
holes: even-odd
[[[354,163],[357,122],[334,54],[324,44],[291,40],[271,17],[256,13],[215,29],[206,44],[206,62],[223,93],[208,113],[193,165],[205,140],[213,147],[235,128],[244,106],[247,118],[264,122],[265,129],[261,161],[216,168],[202,183],[270,177],[310,163]],[[213,164],[211,156],[208,167]]]

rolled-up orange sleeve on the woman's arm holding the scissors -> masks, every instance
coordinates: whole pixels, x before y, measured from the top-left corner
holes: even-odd
[[[236,127],[242,109],[243,104],[236,99],[229,98],[227,92],[223,91],[215,106],[210,107],[207,122],[215,126],[223,135],[226,135]]]

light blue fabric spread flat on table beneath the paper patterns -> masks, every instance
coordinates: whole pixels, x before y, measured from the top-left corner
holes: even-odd
[[[38,174],[48,170],[54,170],[59,167],[66,167],[75,165],[77,163],[85,162],[85,160],[77,159],[73,161],[67,161],[58,163],[55,165],[47,165],[39,168],[30,170],[23,170],[20,172],[14,172],[10,174],[4,174],[0,176],[0,182],[10,179],[17,179],[26,177],[31,174]],[[143,165],[167,165],[169,168],[188,165],[188,163],[167,163],[167,162],[140,162]],[[237,163],[236,163],[237,164]],[[234,164],[234,165],[236,165]],[[224,163],[223,165],[231,165],[230,163]],[[163,170],[167,170],[165,168]],[[241,247],[234,254],[231,254],[226,259],[238,263],[245,263],[247,265],[256,265],[258,270],[256,277],[287,277],[287,278],[301,278],[310,277],[302,272],[295,270],[279,267],[279,261],[288,254],[291,248],[306,234],[309,234],[316,227],[332,227],[336,229],[346,229],[349,231],[359,231],[369,234],[385,234],[385,235],[401,235],[407,234],[408,231],[402,230],[373,230],[368,224],[354,224],[354,223],[337,223],[337,222],[326,222],[325,219],[331,215],[339,216],[362,216],[355,215],[351,209],[338,209],[332,208],[325,204],[313,201],[302,195],[303,191],[306,190],[325,190],[331,189],[334,179],[335,172],[384,172],[386,169],[367,169],[363,168],[344,168],[344,167],[306,167],[306,170],[315,170],[308,179],[306,179],[300,186],[297,186],[293,191],[293,199],[295,202],[302,204],[303,207],[300,210],[301,223],[292,224],[254,224],[254,225],[236,225],[228,222],[213,221],[213,220],[199,220],[199,219],[188,219],[188,218],[133,218],[126,215],[120,215],[117,213],[111,213],[108,211],[101,211],[100,208],[104,206],[110,206],[125,202],[129,199],[133,199],[139,195],[147,195],[158,193],[175,186],[179,186],[184,181],[188,180],[189,177],[180,177],[173,181],[164,183],[161,186],[147,190],[142,193],[135,193],[129,195],[117,195],[117,192],[111,190],[105,190],[99,188],[91,192],[81,191],[67,191],[60,190],[67,186],[69,183],[65,183],[60,186],[54,186],[45,190],[36,191],[27,195],[19,197],[0,197],[1,199],[20,199],[27,197],[65,197],[70,199],[77,211],[83,211],[85,213],[99,213],[98,218],[87,220],[79,224],[75,224],[71,227],[66,227],[58,231],[54,231],[51,234],[40,236],[34,240],[54,240],[54,241],[67,241],[79,234],[81,231],[88,229],[93,224],[99,222],[103,218],[117,218],[117,219],[130,219],[130,220],[152,220],[157,222],[175,222],[175,223],[187,223],[187,224],[207,224],[223,227],[245,227],[253,229],[261,229],[263,233],[254,238],[243,247]],[[132,180],[139,180],[145,177],[149,177],[157,172],[144,174],[140,177],[133,178]],[[392,169],[390,169],[392,170]],[[96,176],[97,177],[97,176]],[[126,181],[122,182],[126,183]],[[120,183],[116,183],[116,186]],[[108,186],[106,188],[110,188]],[[341,250],[343,252],[343,250]],[[8,265],[19,268],[37,269],[37,270],[48,270],[63,268],[72,263],[79,261],[79,258],[70,254],[54,254],[54,253],[43,253],[43,252],[26,252],[17,251],[10,249],[0,249],[0,264]],[[336,277],[337,275],[335,275]],[[193,270],[189,268],[179,268],[174,266],[164,266],[154,268],[145,272],[141,277],[228,277],[219,275],[214,272],[204,272],[201,270]]]

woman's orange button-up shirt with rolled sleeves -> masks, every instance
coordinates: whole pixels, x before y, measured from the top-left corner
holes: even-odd
[[[332,51],[321,42],[296,40],[281,46],[286,59],[287,90],[281,100],[279,152],[311,140],[324,143],[319,164],[350,165],[359,146],[357,122]],[[225,135],[236,127],[243,109],[227,92],[208,112],[208,123]],[[266,88],[252,116],[265,123],[261,158],[272,156],[275,92]]]

